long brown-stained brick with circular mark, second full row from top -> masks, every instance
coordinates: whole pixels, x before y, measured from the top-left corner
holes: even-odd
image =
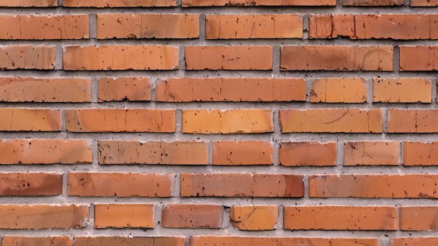
[[[283,46],[282,71],[393,71],[392,46]]]

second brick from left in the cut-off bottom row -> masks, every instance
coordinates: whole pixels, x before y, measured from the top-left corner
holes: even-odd
[[[184,246],[185,237],[85,237],[76,236],[73,246],[101,246],[101,245],[119,245],[119,246]]]

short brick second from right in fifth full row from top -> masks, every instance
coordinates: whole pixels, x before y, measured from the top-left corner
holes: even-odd
[[[344,143],[344,166],[399,164],[398,142]]]

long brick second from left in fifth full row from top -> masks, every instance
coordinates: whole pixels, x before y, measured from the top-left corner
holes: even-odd
[[[99,140],[99,164],[209,164],[204,142],[142,142],[137,140]]]

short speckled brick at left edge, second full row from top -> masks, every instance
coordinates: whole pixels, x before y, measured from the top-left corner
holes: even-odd
[[[55,68],[54,46],[13,45],[0,48],[0,70]]]

